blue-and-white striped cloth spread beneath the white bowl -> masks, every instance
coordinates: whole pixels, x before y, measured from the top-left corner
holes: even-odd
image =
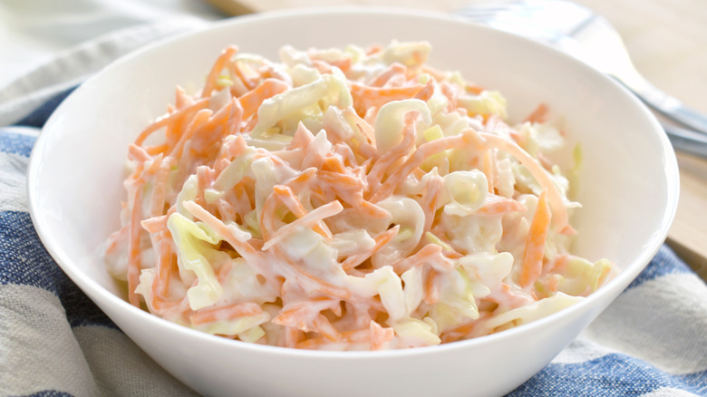
[[[65,94],[19,124],[41,125]],[[0,395],[192,394],[132,344],[44,250],[25,195],[38,133],[0,127]],[[661,247],[604,314],[509,395],[707,395],[707,286]]]

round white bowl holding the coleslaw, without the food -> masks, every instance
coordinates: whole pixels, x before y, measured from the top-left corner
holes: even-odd
[[[555,315],[435,347],[334,353],[246,344],[203,334],[129,305],[107,275],[102,243],[119,225],[127,146],[172,100],[200,85],[228,44],[276,59],[295,47],[427,40],[431,64],[503,92],[511,117],[546,102],[584,152],[576,253],[621,273]],[[520,115],[520,116],[518,116]],[[140,50],[82,84],[47,121],[28,189],[34,225],[63,271],[169,373],[208,395],[446,395],[510,392],[569,344],[663,243],[678,196],[670,143],[634,96],[541,44],[445,15],[329,9],[239,17]]]

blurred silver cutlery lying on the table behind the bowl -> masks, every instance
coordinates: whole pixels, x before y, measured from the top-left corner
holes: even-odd
[[[653,111],[693,130],[662,122],[675,149],[707,157],[707,116],[645,80],[631,62],[621,35],[603,16],[564,0],[468,5],[456,14],[556,47],[614,77]]]

